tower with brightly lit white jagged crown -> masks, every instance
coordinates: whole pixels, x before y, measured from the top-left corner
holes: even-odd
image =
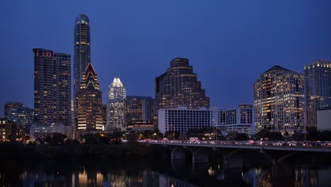
[[[120,78],[114,78],[108,89],[107,125],[110,128],[125,126],[125,98],[127,91]]]

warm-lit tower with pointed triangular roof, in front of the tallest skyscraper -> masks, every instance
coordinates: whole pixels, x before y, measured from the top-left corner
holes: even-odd
[[[98,76],[92,64],[88,64],[81,88],[77,92],[77,117],[76,130],[102,130],[103,129],[103,114],[102,114],[102,95]]]

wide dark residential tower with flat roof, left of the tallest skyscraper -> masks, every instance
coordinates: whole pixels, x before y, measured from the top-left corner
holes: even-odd
[[[71,125],[71,57],[52,50],[35,55],[35,118],[41,125]]]

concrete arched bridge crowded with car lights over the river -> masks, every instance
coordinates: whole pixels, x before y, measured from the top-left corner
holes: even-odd
[[[331,146],[316,145],[314,142],[306,142],[301,146],[295,145],[273,145],[272,142],[237,142],[237,141],[185,141],[185,140],[151,140],[149,145],[161,145],[170,149],[171,160],[185,159],[185,150],[192,154],[192,163],[209,162],[209,153],[219,151],[223,157],[224,166],[228,160],[241,150],[249,149],[259,152],[276,165],[294,154],[303,152],[325,152],[331,153]],[[315,146],[313,146],[315,145]],[[233,165],[233,164],[232,164]],[[240,163],[234,164],[240,166]],[[235,166],[236,167],[236,166]]]

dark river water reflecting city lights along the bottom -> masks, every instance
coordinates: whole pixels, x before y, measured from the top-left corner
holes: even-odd
[[[0,166],[1,186],[331,186],[331,164],[325,158],[294,158],[277,166],[246,162],[239,168],[168,159],[22,161]]]

